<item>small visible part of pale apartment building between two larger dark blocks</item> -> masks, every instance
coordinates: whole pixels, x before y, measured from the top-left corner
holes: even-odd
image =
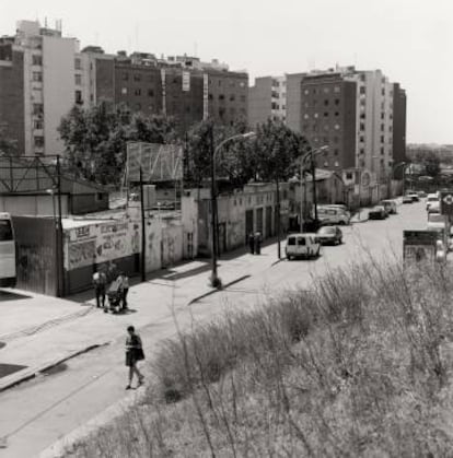
[[[287,120],[287,77],[262,77],[248,87],[248,125]]]

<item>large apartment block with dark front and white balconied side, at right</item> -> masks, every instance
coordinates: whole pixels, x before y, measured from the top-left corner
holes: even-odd
[[[346,67],[293,75],[288,94],[288,126],[314,148],[329,146],[317,158],[320,166],[369,169],[383,179],[404,161],[406,95],[381,70]]]

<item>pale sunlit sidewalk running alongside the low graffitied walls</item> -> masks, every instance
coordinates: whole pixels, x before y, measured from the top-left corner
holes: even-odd
[[[228,253],[219,259],[219,277],[228,287],[269,269],[276,260],[275,243],[264,246],[260,256],[245,254],[244,249]],[[209,259],[161,270],[147,282],[130,287],[130,308],[118,315],[96,308],[91,293],[63,300],[3,290],[7,295],[0,296],[0,391],[114,342],[128,325],[141,328],[158,324],[181,307],[196,306],[197,298],[217,292],[210,287],[209,277]]]

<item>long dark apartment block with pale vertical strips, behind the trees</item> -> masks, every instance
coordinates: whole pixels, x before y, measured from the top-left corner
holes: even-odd
[[[151,54],[105,55],[88,47],[94,72],[94,99],[126,105],[146,115],[174,117],[184,129],[202,119],[230,125],[247,117],[246,72],[232,72],[217,60],[177,56],[159,59]]]

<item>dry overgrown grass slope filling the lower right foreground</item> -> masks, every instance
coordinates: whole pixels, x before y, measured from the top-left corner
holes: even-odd
[[[370,259],[167,340],[147,401],[68,456],[449,456],[452,279]]]

